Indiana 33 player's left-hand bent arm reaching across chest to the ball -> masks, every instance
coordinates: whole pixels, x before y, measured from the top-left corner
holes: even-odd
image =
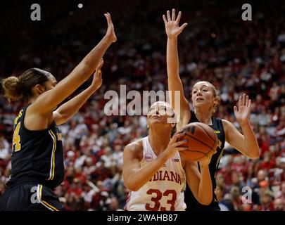
[[[131,191],[138,191],[139,188],[144,186],[151,177],[163,166],[163,164],[171,158],[177,150],[184,150],[185,147],[179,147],[185,141],[177,141],[182,134],[175,134],[172,136],[170,143],[163,153],[152,162],[148,163],[144,167],[141,167],[140,161],[143,155],[142,143],[130,143],[125,147],[122,167],[122,175],[124,178],[124,184]]]

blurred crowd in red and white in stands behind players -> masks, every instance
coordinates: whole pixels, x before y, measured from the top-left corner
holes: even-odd
[[[226,144],[216,176],[217,198],[222,210],[285,210],[285,4],[253,1],[253,20],[243,21],[240,1],[234,2],[221,8],[204,1],[193,6],[173,1],[173,7],[183,10],[182,23],[189,23],[179,37],[185,96],[190,98],[195,82],[208,80],[221,98],[216,116],[237,128],[233,107],[239,95],[251,97],[260,158],[248,159]],[[27,25],[26,30],[7,33],[10,37],[18,32],[17,53],[2,46],[6,56],[0,58],[1,78],[36,67],[60,80],[103,36],[103,12],[110,7],[118,41],[104,56],[103,86],[60,127],[65,180],[55,191],[66,210],[122,210],[125,205],[122,151],[147,135],[146,117],[107,116],[106,91],[120,94],[120,84],[127,91],[167,90],[162,15],[172,5],[138,0],[106,4],[86,1],[84,10],[54,15],[37,32]],[[27,48],[21,41],[29,39],[34,43]],[[11,172],[13,120],[21,107],[23,103],[8,104],[0,95],[0,195]]]

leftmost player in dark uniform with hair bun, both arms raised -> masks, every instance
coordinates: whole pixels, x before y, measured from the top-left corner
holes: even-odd
[[[58,84],[53,75],[37,68],[2,80],[8,101],[24,100],[27,105],[14,121],[11,179],[1,195],[0,210],[63,210],[53,193],[64,178],[62,137],[57,126],[70,119],[102,84],[101,58],[117,39],[110,14],[105,17],[106,35]],[[56,109],[95,70],[92,84]]]

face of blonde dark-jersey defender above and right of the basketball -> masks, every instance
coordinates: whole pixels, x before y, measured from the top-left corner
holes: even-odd
[[[194,107],[213,105],[214,95],[211,87],[206,82],[198,82],[192,90],[192,103]]]

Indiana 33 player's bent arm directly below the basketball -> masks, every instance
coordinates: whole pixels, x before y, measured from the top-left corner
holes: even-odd
[[[209,163],[215,153],[213,151],[208,155],[208,158],[199,161],[201,173],[198,170],[197,162],[186,161],[184,168],[189,188],[196,200],[203,205],[209,205],[213,200],[213,184],[210,177]]]

